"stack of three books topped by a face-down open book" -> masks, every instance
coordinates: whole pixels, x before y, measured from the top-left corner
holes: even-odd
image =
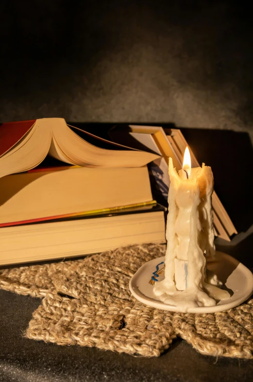
[[[165,242],[147,169],[157,158],[62,118],[2,124],[0,265]]]

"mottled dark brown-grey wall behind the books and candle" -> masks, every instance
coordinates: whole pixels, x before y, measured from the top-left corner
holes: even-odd
[[[0,120],[250,131],[253,27],[235,4],[2,0]]]

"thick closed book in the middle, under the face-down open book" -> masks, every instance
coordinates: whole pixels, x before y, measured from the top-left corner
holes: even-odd
[[[147,166],[46,168],[0,178],[0,227],[153,203]]]

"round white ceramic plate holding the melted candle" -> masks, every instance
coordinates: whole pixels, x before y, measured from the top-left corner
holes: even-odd
[[[143,304],[180,312],[177,306],[164,304],[153,293],[152,284],[164,279],[164,259],[162,256],[140,267],[130,280],[130,291]],[[234,257],[217,251],[216,260],[209,263],[207,268],[217,274],[219,280],[224,284],[222,288],[227,289],[231,297],[227,300],[220,300],[216,306],[190,308],[188,313],[214,313],[228,310],[243,303],[253,293],[252,272]]]

